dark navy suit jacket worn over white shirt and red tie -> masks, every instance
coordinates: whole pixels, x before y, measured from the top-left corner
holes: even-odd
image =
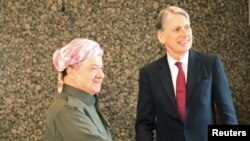
[[[218,56],[189,50],[185,122],[178,118],[167,56],[140,69],[136,141],[207,141],[216,124],[238,124],[224,66]]]

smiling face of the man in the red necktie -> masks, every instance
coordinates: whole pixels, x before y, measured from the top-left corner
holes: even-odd
[[[190,21],[182,14],[170,13],[164,19],[163,29],[158,31],[157,37],[169,55],[179,60],[192,46]]]

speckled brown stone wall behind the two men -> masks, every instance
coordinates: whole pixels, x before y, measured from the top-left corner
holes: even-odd
[[[221,56],[250,124],[248,0],[0,0],[0,141],[41,140],[57,93],[52,54],[76,37],[105,50],[101,110],[115,141],[133,141],[138,70],[165,53],[154,25],[167,5],[190,13],[194,48]]]

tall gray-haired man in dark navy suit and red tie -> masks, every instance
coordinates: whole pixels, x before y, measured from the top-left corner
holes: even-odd
[[[188,13],[170,6],[156,28],[166,55],[140,70],[136,140],[207,141],[215,107],[223,124],[238,124],[222,61],[191,49]]]

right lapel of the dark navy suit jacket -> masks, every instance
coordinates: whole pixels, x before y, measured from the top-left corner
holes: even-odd
[[[192,95],[195,83],[200,77],[201,62],[196,52],[189,51],[188,74],[187,74],[187,103]]]

